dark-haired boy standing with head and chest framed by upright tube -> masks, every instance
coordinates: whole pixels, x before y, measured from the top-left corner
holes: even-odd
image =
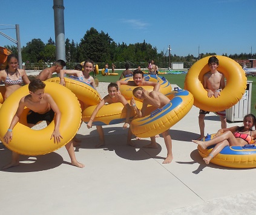
[[[220,96],[220,91],[225,88],[225,79],[224,75],[221,72],[217,71],[218,67],[218,59],[215,56],[212,56],[208,60],[208,65],[210,71],[203,75],[203,87],[208,92],[208,97],[217,98]],[[220,116],[221,127],[222,129],[226,129],[226,112],[215,112]],[[199,128],[200,128],[200,136],[197,140],[201,140],[205,137],[205,114],[209,114],[209,111],[203,111],[200,109],[199,112]]]

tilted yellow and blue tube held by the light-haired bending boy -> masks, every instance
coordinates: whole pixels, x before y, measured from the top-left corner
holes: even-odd
[[[161,109],[131,121],[130,127],[134,135],[142,138],[155,136],[168,130],[188,114],[193,105],[193,95],[184,89],[172,91],[172,94],[173,98]]]

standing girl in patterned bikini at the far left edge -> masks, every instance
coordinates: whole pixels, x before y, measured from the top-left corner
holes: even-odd
[[[18,58],[14,54],[8,55],[7,63],[7,68],[0,71],[0,79],[4,81],[6,90],[4,100],[22,84],[30,83],[24,69],[18,69]]]

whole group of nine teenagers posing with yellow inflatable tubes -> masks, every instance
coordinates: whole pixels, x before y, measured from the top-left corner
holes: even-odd
[[[50,124],[51,121],[54,120],[54,130],[50,139],[53,138],[54,143],[60,143],[62,139],[62,134],[59,132],[59,124],[61,121],[61,112],[57,107],[57,104],[54,102],[53,98],[50,94],[44,93],[45,81],[50,79],[54,72],[59,74],[60,84],[65,86],[65,74],[74,75],[82,82],[90,84],[94,89],[96,89],[96,84],[91,77],[90,72],[94,69],[94,62],[92,60],[85,60],[84,69],[82,66],[77,65],[74,69],[63,69],[65,66],[64,60],[57,60],[53,66],[50,68],[46,68],[42,70],[36,79],[29,80],[24,69],[18,69],[18,58],[10,54],[7,58],[7,68],[0,71],[0,79],[3,80],[5,84],[5,95],[4,100],[8,98],[8,96],[14,92],[16,89],[20,88],[24,84],[28,84],[28,95],[22,97],[19,101],[19,106],[11,120],[10,126],[8,127],[7,132],[4,136],[4,141],[6,144],[11,144],[11,140],[13,137],[12,130],[15,125],[19,121],[19,117],[21,117],[22,111],[24,107],[28,107],[30,112],[27,115],[27,123],[29,127],[33,127],[35,124],[40,123],[41,121],[46,121],[47,124]],[[208,61],[209,72],[207,72],[203,76],[203,86],[208,91],[208,97],[215,97],[221,95],[221,90],[225,88],[224,76],[221,72],[217,71],[218,59],[215,56],[209,58]],[[224,83],[224,85],[223,85]],[[136,100],[134,97],[130,100],[130,103],[125,100],[122,94],[120,94],[120,85],[129,85],[134,86],[133,95],[139,100],[143,100],[142,109],[137,108]],[[143,86],[153,86],[153,91],[149,92],[143,89]],[[131,109],[134,109],[138,117],[145,117],[146,109],[148,105],[154,106],[157,108],[161,108],[165,106],[165,104],[169,103],[169,98],[159,92],[160,84],[157,82],[149,82],[143,80],[143,72],[138,68],[133,71],[133,80],[118,80],[116,83],[110,83],[108,85],[108,95],[102,98],[100,103],[96,106],[91,115],[90,120],[87,123],[88,129],[93,126],[94,118],[97,115],[99,109],[105,105],[106,103],[117,103],[120,102],[126,108],[126,120],[123,124],[123,129],[129,127],[130,124],[130,114]],[[212,149],[209,156],[203,158],[206,164],[209,164],[214,156],[216,156],[225,146],[243,146],[245,144],[251,143],[252,140],[256,137],[256,131],[252,130],[252,127],[255,126],[255,116],[252,114],[246,115],[243,120],[243,126],[233,126],[230,128],[226,128],[225,125],[222,129],[218,130],[215,138],[210,141],[200,141],[204,136],[204,123],[202,117],[200,116],[207,114],[207,111],[200,110],[199,115],[199,127],[200,127],[200,138],[199,140],[192,140],[192,142],[199,144],[203,149],[206,147],[215,145],[214,149]],[[55,118],[54,118],[55,115]],[[204,119],[204,117],[203,117]],[[105,138],[103,134],[102,126],[96,126],[97,132],[99,133],[99,144],[96,147],[100,147],[105,145]],[[135,146],[135,144],[131,141],[133,133],[129,127],[128,135],[127,135],[127,144],[130,146]],[[163,164],[171,163],[172,156],[172,140],[169,135],[169,129],[162,132],[162,137],[165,141],[167,156],[163,161]],[[156,136],[151,136],[151,143],[144,147],[157,148]],[[76,160],[76,156],[74,154],[73,144],[77,144],[79,140],[77,138],[73,138],[69,143],[65,145],[68,155],[70,155],[71,164],[83,168],[84,164],[78,162]],[[9,164],[5,165],[4,168],[9,168],[19,165],[19,154],[16,152],[12,152],[11,161]]]

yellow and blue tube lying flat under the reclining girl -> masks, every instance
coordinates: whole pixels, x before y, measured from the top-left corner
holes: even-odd
[[[207,135],[206,138],[203,138],[203,141],[211,140],[214,136],[215,133]],[[211,153],[213,147],[202,149],[202,147],[198,146],[197,149],[200,155],[205,158]],[[226,146],[210,162],[224,167],[254,168],[256,167],[256,147]]]

